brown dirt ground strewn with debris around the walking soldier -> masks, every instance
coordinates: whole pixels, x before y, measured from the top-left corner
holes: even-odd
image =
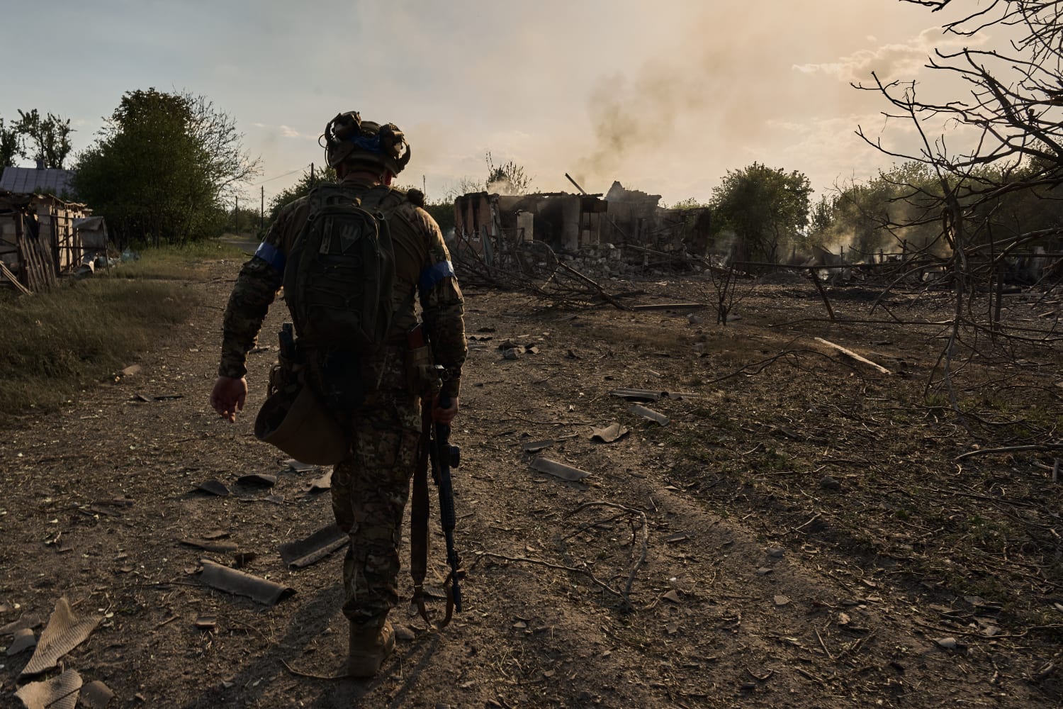
[[[1001,612],[993,598],[965,601],[929,572],[921,584],[923,571],[897,561],[901,552],[856,543],[842,524],[864,514],[883,544],[938,554],[933,538],[874,522],[875,501],[887,500],[875,486],[889,470],[915,465],[921,445],[941,461],[963,445],[948,436],[924,443],[868,412],[878,400],[899,401],[891,387],[905,377],[856,370],[824,350],[711,383],[782,350],[811,352],[814,336],[863,352],[877,342],[894,370],[932,365],[931,349],[870,331],[770,327],[788,319],[784,307],[794,317],[816,307],[783,305],[778,290],[750,296],[744,320],[724,331],[688,313],[536,311],[517,296],[469,292],[468,330],[478,339],[454,433],[465,612],[435,634],[396,609],[406,639],[372,681],[289,671],[284,662],[318,675],[342,663],[340,555],[293,571],[277,553],[327,524],[331,510],[327,492],[310,491],[320,471],[296,472],[252,435],[275,348],[251,355],[251,410],[235,425],[206,404],[237,269],[220,263],[188,284],[202,305],[136,362],[138,373],[28,418],[0,442],[0,625],[47,621],[64,595],[75,613],[102,617],[64,662],[104,681],[113,706],[1058,706],[1053,674],[1044,673],[1059,662],[1058,644],[1028,617]],[[649,289],[689,301],[705,294],[691,292],[698,287]],[[274,306],[263,344],[284,315]],[[538,352],[507,359],[499,349],[507,339]],[[706,356],[692,349],[698,342]],[[611,396],[618,387],[695,395],[646,403],[671,418],[659,426]],[[827,388],[845,390],[829,405],[842,413],[826,410]],[[592,427],[611,422],[627,435],[591,440]],[[545,439],[537,455],[590,476],[569,483],[532,470],[523,446]],[[868,462],[860,445],[870,440],[915,452],[890,449]],[[249,473],[279,479],[272,490],[236,483]],[[196,491],[208,479],[234,494]],[[234,564],[235,556],[180,540],[215,530],[254,555],[242,559],[246,571],[294,595],[267,607],[200,584],[201,558]],[[408,598],[405,569],[402,583]],[[1030,591],[1045,627],[1063,619],[1051,603]],[[197,627],[203,617],[213,629]],[[983,632],[986,624],[995,630]],[[955,646],[939,642],[947,638]],[[4,703],[29,655],[0,660]]]

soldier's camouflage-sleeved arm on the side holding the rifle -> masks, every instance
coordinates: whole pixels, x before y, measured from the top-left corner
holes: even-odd
[[[427,256],[422,263],[418,281],[421,309],[432,339],[432,354],[436,364],[446,370],[446,381],[440,393],[455,398],[460,393],[461,366],[468,354],[465,303],[439,225],[423,209],[417,209],[417,215],[428,236]]]

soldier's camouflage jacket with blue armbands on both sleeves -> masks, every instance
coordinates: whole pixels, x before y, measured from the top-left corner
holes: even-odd
[[[366,192],[387,189],[348,184]],[[402,339],[417,323],[412,298],[416,292],[432,336],[436,364],[446,369],[442,393],[457,396],[467,354],[461,289],[439,225],[427,212],[405,199],[404,192],[391,191],[402,198],[402,203],[388,219],[395,256],[392,297],[395,313],[389,339]],[[308,213],[305,197],[285,205],[258,251],[240,269],[225,308],[219,375],[241,377],[247,373],[247,353],[254,347],[266,311],[281,288],[287,255]]]

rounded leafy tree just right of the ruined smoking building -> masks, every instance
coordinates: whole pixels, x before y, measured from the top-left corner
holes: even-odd
[[[777,263],[780,250],[794,242],[808,222],[812,188],[803,173],[754,163],[728,170],[713,188],[713,231],[735,233],[739,260]]]

